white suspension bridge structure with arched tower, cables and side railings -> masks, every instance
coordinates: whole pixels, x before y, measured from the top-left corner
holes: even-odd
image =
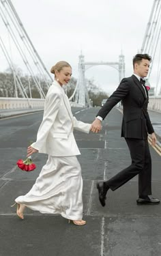
[[[38,79],[37,74],[46,81],[46,87],[48,88],[53,81],[52,76],[46,69],[40,55],[35,50],[27,31],[23,27],[12,1],[10,0],[0,0],[0,25],[1,22],[8,33],[8,38],[10,42],[14,45],[14,51],[17,51],[20,56],[23,65],[27,70],[27,74],[32,78],[35,88],[37,89],[40,98],[32,98],[31,86],[29,81],[29,94],[27,94],[26,89],[23,85],[23,81],[18,74],[14,62],[12,59],[12,53],[10,48],[6,46],[5,40],[0,35],[0,53],[2,52],[5,59],[12,70],[14,77],[14,89],[15,97],[0,98],[0,111],[1,109],[42,109],[44,106],[45,92],[43,86]],[[153,6],[151,9],[151,14],[149,17],[149,22],[147,24],[147,29],[145,31],[145,37],[143,44],[141,46],[141,53],[149,53],[151,55],[153,62],[156,62],[156,56],[161,59],[161,0],[153,0]],[[159,54],[157,54],[158,46],[160,46]],[[155,61],[154,61],[155,59]],[[155,96],[149,98],[149,109],[156,111],[161,111],[161,86],[160,86],[160,73],[161,73],[161,61],[158,61],[158,72],[157,72],[157,82],[155,87]],[[85,72],[93,66],[111,66],[118,71],[118,79],[121,81],[125,76],[125,59],[124,55],[121,53],[119,55],[118,61],[85,61],[85,56],[81,53],[78,62],[78,79],[76,87],[72,96],[70,97],[70,102],[72,106],[91,106],[89,99]],[[151,66],[152,71],[152,66]],[[147,83],[150,81],[151,71],[147,77]],[[18,91],[20,96],[18,97]]]

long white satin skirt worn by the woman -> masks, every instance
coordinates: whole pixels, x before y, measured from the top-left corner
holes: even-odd
[[[81,166],[76,156],[48,156],[29,193],[15,201],[32,210],[76,221],[83,217],[82,191]]]

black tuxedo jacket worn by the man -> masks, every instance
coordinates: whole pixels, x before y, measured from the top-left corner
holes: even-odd
[[[98,115],[104,119],[120,100],[123,104],[121,137],[147,139],[147,134],[154,132],[147,112],[148,91],[146,98],[143,85],[136,76],[122,79],[119,87],[108,98]]]

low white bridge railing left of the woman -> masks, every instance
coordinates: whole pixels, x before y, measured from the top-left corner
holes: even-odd
[[[0,98],[1,109],[42,109],[44,99],[34,98]]]

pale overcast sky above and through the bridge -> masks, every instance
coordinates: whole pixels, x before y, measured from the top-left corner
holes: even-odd
[[[50,70],[57,61],[65,60],[77,78],[81,51],[85,61],[118,61],[122,51],[126,76],[132,74],[132,57],[141,49],[153,0],[12,0],[12,3],[46,68]],[[0,30],[7,42],[1,18]],[[20,66],[18,55],[12,52],[12,57]],[[7,66],[0,48],[0,71]],[[109,66],[94,66],[85,75],[110,93],[119,83],[117,70]],[[151,83],[155,79],[151,78]]]

